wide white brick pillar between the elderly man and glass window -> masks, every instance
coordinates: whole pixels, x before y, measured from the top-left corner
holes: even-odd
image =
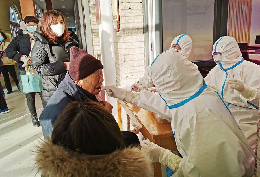
[[[118,86],[144,76],[144,20],[142,0],[119,0],[120,31],[113,32]]]

